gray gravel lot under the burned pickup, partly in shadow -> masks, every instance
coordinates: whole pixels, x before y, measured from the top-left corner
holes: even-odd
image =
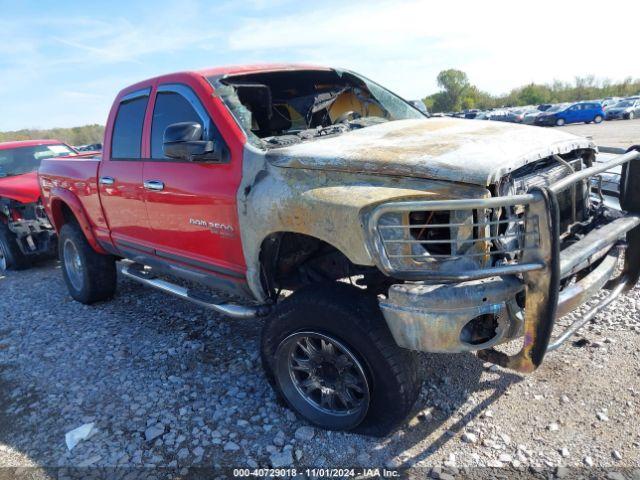
[[[259,321],[124,279],[113,301],[83,306],[55,261],[0,275],[0,293],[0,478],[29,466],[386,466],[440,478],[591,467],[640,478],[639,289],[529,376],[471,354],[424,355],[417,415],[382,439],[314,430],[277,404]],[[91,422],[69,451],[65,433]]]

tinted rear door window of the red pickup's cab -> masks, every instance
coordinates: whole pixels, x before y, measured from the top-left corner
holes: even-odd
[[[147,109],[147,95],[125,100],[118,107],[111,138],[111,158],[140,158],[142,126]]]

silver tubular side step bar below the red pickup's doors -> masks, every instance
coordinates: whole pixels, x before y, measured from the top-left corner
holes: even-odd
[[[146,285],[147,287],[155,288],[162,292],[168,293],[183,300],[200,305],[201,307],[208,308],[215,312],[221,313],[228,317],[238,319],[249,319],[256,317],[263,317],[269,313],[269,309],[266,306],[245,306],[236,305],[234,303],[214,303],[212,299],[206,298],[204,295],[189,291],[188,288],[176,285],[166,280],[153,278],[152,276],[145,274],[143,271],[134,267],[136,264],[121,263],[120,272],[123,276],[135,280],[138,283]]]

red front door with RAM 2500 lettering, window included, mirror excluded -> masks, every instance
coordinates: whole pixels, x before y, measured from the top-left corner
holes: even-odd
[[[223,160],[189,162],[165,157],[164,131],[179,122],[202,125],[203,140],[214,140],[223,146]],[[186,84],[158,86],[150,145],[151,158],[145,161],[143,183],[156,255],[213,273],[244,278],[236,207],[238,179],[218,128],[200,98]]]

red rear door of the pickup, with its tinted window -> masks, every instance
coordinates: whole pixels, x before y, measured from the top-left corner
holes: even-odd
[[[128,256],[151,252],[150,227],[142,188],[142,132],[151,88],[120,99],[104,146],[98,185],[115,246]]]

